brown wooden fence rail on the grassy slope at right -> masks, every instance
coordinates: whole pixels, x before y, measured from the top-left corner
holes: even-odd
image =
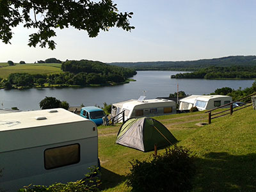
[[[228,114],[232,115],[235,111],[239,111],[241,109],[248,108],[248,107],[252,106],[252,101],[244,102],[244,105],[240,106],[239,108],[238,107],[234,107],[233,104],[234,104],[234,102],[238,102],[238,101],[247,99],[247,98],[252,97],[254,95],[256,95],[256,93],[253,93],[251,95],[243,97],[242,99],[235,100],[233,102],[230,102],[230,103],[225,104],[223,106],[220,106],[218,108],[214,108],[214,109],[211,109],[209,111],[205,111],[205,113],[208,113],[208,124],[211,124],[211,120],[214,119],[214,118],[218,118],[218,117],[225,116],[225,115],[228,115]],[[230,106],[230,109],[227,109],[225,111],[220,111],[220,112],[212,114],[212,111],[215,111],[216,109],[220,109],[220,108],[223,108],[223,107],[226,107],[226,106]],[[228,111],[228,113],[225,113],[227,111]],[[224,113],[224,114],[221,114],[221,113]],[[219,116],[216,116],[216,115],[219,115]],[[212,117],[212,116],[214,116],[214,117]]]

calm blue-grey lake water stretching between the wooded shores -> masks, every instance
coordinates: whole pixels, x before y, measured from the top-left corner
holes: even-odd
[[[207,79],[170,79],[175,71],[138,71],[133,77],[136,81],[117,86],[90,88],[40,88],[28,90],[0,90],[0,108],[17,107],[21,110],[40,109],[39,102],[47,97],[66,100],[70,106],[103,106],[103,102],[112,104],[128,99],[138,99],[145,95],[147,99],[168,97],[179,90],[186,94],[208,94],[225,86],[237,90],[239,87],[252,86],[254,80],[207,80]]]

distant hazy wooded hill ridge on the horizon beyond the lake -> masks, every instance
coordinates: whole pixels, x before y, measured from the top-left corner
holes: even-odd
[[[120,67],[134,68],[135,70],[188,70],[195,71],[199,68],[217,66],[256,66],[256,56],[227,56],[195,61],[152,61],[152,62],[116,62],[109,63]]]

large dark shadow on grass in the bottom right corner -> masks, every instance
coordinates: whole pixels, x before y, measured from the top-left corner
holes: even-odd
[[[232,156],[211,152],[196,159],[193,191],[256,191],[256,154]]]

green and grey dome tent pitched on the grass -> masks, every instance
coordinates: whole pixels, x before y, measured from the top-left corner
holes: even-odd
[[[177,143],[172,133],[154,118],[129,118],[120,127],[116,143],[143,152],[157,148],[167,147]]]

